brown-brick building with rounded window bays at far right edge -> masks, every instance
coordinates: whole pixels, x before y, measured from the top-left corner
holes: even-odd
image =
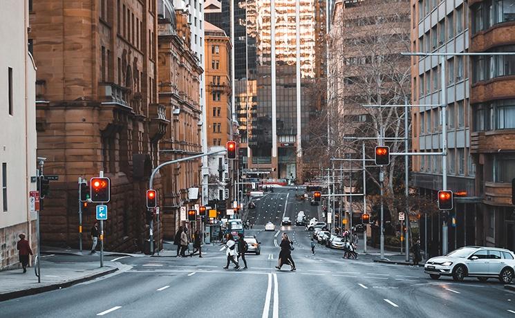
[[[515,52],[513,1],[469,1],[470,52]],[[470,152],[476,167],[479,245],[515,249],[515,57],[476,56],[470,63]]]

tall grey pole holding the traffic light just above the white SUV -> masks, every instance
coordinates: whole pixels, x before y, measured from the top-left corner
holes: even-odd
[[[445,56],[440,56],[440,71],[442,73],[442,190],[447,190],[447,82],[445,76]],[[448,212],[444,212],[448,214]],[[442,254],[447,254],[448,227],[447,218],[442,222]]]

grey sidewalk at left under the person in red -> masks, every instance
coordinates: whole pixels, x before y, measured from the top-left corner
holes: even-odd
[[[99,263],[54,263],[41,261],[41,283],[37,283],[34,268],[27,268],[23,274],[21,269],[0,272],[0,301],[38,294],[49,290],[66,288],[76,283],[90,281],[97,277],[116,272],[124,265],[116,262],[105,262],[100,268]]]

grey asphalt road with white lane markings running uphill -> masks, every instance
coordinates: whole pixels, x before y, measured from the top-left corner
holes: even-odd
[[[293,218],[300,208],[309,216],[318,213],[309,203],[296,205],[294,191],[276,189],[257,203],[248,215],[256,225],[247,235],[261,242],[261,255],[247,256],[248,270],[223,270],[220,245],[205,245],[202,259],[113,258],[132,267],[63,290],[1,302],[0,316],[515,317],[515,293],[494,280],[434,281],[422,268],[373,263],[366,256],[341,259],[341,251],[321,245],[312,255],[310,232],[279,226],[283,214]],[[264,231],[269,220],[278,225],[276,231]],[[274,269],[281,232],[294,241],[297,272],[288,266]]]

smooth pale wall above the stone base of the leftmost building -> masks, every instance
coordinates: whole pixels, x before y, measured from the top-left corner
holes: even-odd
[[[8,211],[0,191],[0,228],[30,219],[28,192],[36,189],[35,66],[27,48],[28,0],[4,0],[0,10],[0,187],[7,163]],[[8,67],[12,68],[13,113],[8,111]]]

